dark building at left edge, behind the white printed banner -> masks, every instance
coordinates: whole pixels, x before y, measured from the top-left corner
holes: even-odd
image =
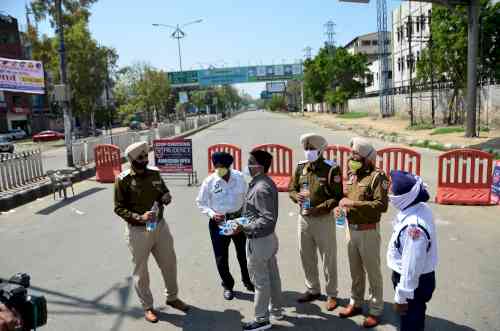
[[[0,14],[0,57],[24,59],[17,20]],[[31,133],[32,96],[0,91],[0,132],[20,128]]]

